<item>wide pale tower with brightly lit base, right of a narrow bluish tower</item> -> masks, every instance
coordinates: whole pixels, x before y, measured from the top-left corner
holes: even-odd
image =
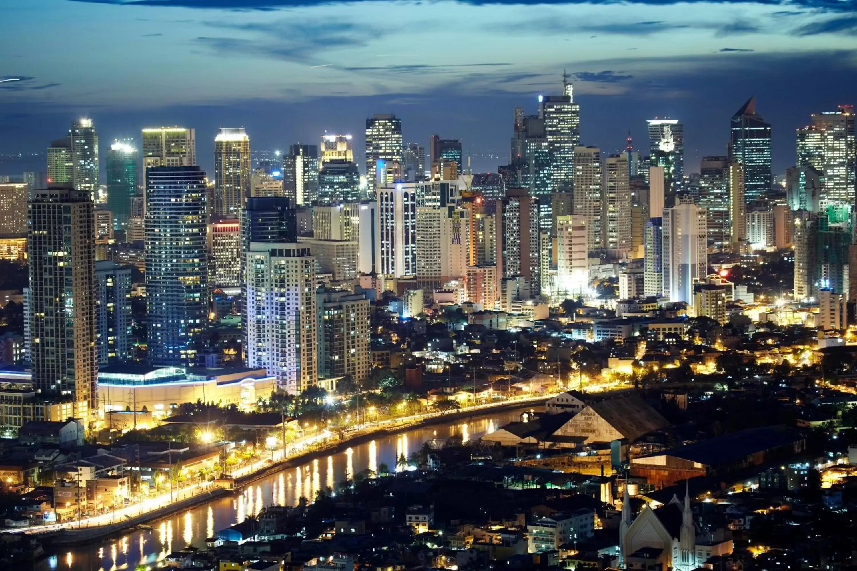
[[[693,303],[693,283],[708,274],[705,209],[689,197],[663,209],[663,294]]]

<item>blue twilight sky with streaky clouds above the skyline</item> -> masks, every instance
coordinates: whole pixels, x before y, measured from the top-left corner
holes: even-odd
[[[0,14],[0,79],[22,78],[0,83],[0,153],[42,151],[87,115],[102,152],[144,126],[196,128],[209,169],[220,126],[254,149],[325,129],[361,149],[365,118],[393,112],[406,141],[460,138],[495,170],[515,105],[536,112],[566,68],[584,144],[613,152],[630,130],[642,149],[645,119],[671,116],[698,170],[755,94],[782,174],[794,128],[857,101],[855,0],[0,0]]]

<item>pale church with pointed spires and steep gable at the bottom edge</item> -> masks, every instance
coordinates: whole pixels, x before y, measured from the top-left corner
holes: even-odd
[[[652,509],[646,504],[637,517],[632,518],[631,497],[626,486],[619,526],[620,569],[693,571],[702,567],[710,556],[732,552],[731,538],[699,541],[698,536],[687,489],[684,502],[673,496],[667,505],[659,508]]]

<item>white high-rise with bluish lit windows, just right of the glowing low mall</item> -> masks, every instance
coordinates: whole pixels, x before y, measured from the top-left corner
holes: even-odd
[[[297,395],[318,379],[315,259],[293,242],[251,241],[244,256],[246,364]]]

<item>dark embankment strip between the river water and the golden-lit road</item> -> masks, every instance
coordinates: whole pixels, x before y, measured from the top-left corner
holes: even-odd
[[[468,419],[486,414],[502,413],[505,411],[515,410],[524,407],[537,407],[540,406],[547,398],[549,397],[540,397],[538,399],[530,399],[526,401],[503,402],[495,406],[470,408],[468,410],[458,411],[455,413],[438,414],[436,416],[424,417],[421,419],[411,419],[400,423],[390,423],[390,425],[378,425],[377,427],[373,427],[371,430],[356,432],[342,440],[325,443],[321,445],[321,447],[319,447],[318,449],[307,450],[302,454],[292,456],[291,458],[288,458],[284,461],[277,461],[273,464],[267,464],[266,466],[261,467],[260,470],[257,470],[254,473],[249,473],[241,478],[236,479],[235,487],[236,489],[243,488],[246,485],[255,483],[257,480],[264,479],[267,476],[271,476],[272,474],[279,473],[283,470],[287,470],[296,466],[302,466],[303,464],[313,461],[320,456],[339,454],[341,452],[344,452],[346,449],[349,449],[350,447],[355,447],[363,443],[368,443],[377,438],[387,437],[390,435],[397,434],[399,432],[419,428],[421,426],[437,425],[441,423],[460,419]],[[195,494],[192,497],[185,498],[176,503],[171,503],[169,505],[162,506],[159,509],[153,509],[152,511],[148,511],[145,514],[139,514],[137,516],[129,518],[126,517],[124,520],[118,521],[116,523],[82,528],[71,527],[62,530],[44,532],[33,531],[28,533],[32,533],[35,538],[38,538],[39,541],[45,542],[45,544],[47,545],[61,546],[69,544],[91,544],[99,540],[103,540],[105,538],[111,538],[113,536],[120,535],[125,532],[129,527],[134,527],[140,524],[161,520],[171,514],[211,502],[220,497],[226,497],[231,493],[233,492],[219,488],[211,488],[207,491]]]

